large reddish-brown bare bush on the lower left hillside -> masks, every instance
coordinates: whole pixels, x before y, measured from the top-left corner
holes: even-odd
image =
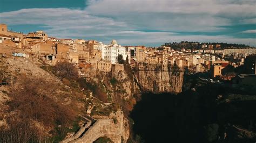
[[[41,121],[44,125],[52,126],[58,121],[60,125],[73,120],[73,112],[66,106],[53,101],[57,85],[49,83],[44,78],[21,77],[10,89],[10,110],[18,110],[24,118]]]

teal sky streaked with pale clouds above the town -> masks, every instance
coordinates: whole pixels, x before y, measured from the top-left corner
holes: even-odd
[[[0,0],[9,30],[121,45],[199,41],[256,47],[255,0]]]

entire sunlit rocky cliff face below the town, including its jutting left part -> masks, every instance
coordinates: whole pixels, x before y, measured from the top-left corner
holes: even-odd
[[[99,80],[113,102],[129,101],[142,92],[177,94],[182,90],[184,72],[177,67],[146,63],[138,63],[133,69],[127,65],[120,67],[109,75],[101,75]],[[113,79],[114,83],[110,83]]]

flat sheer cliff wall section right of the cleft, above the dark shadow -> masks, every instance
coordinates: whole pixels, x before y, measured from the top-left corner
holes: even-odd
[[[134,81],[143,91],[181,92],[184,72],[167,65],[138,63],[134,68]]]

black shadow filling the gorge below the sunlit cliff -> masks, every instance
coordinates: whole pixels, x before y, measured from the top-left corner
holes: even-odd
[[[237,138],[233,125],[256,132],[256,96],[226,103],[221,87],[204,85],[178,95],[145,93],[130,114],[132,131],[145,142],[251,142]],[[251,96],[249,98],[252,98]],[[224,134],[227,137],[224,139]]]

